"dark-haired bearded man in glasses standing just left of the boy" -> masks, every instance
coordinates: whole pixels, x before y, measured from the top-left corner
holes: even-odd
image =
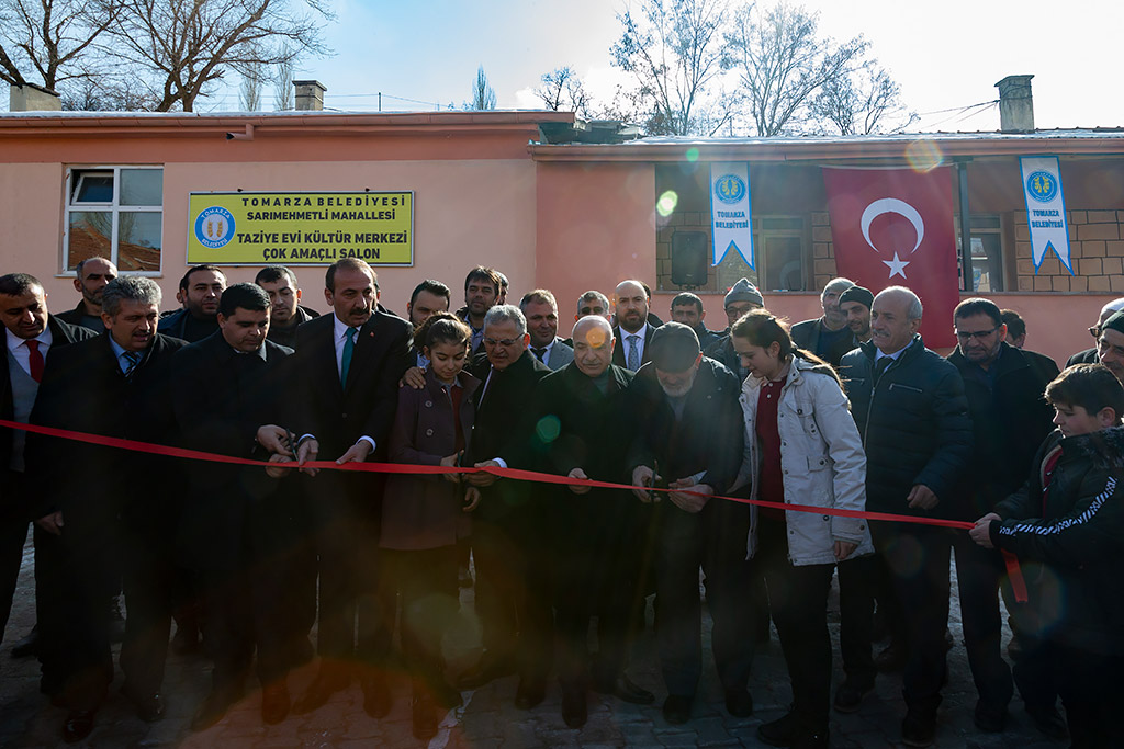
[[[950,517],[971,520],[991,512],[1026,479],[1037,446],[1052,429],[1053,410],[1043,400],[1058,366],[1041,354],[1006,342],[1007,326],[999,308],[986,299],[967,299],[953,312],[957,349],[949,362],[960,371],[972,418],[973,465],[949,495]],[[994,733],[1004,729],[1012,696],[1010,669],[1000,655],[1003,622],[997,592],[1004,578],[1003,557],[976,546],[961,532],[952,533],[957,556],[964,643],[979,700],[976,727]],[[1016,639],[1028,637],[1019,627],[1022,605],[1009,586],[1003,588]],[[1035,723],[1049,720],[1054,695],[1040,695],[1019,682],[1019,692]]]

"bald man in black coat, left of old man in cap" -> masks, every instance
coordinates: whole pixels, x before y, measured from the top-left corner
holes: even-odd
[[[558,436],[544,450],[543,471],[572,478],[620,483],[626,394],[633,373],[613,365],[613,327],[589,316],[573,327],[574,360],[544,377],[535,390],[535,423],[555,422]],[[558,672],[562,719],[580,728],[587,719],[589,619],[598,616],[600,648],[593,688],[625,702],[655,697],[625,675],[629,623],[637,594],[643,545],[641,504],[627,491],[584,486],[542,487],[550,497],[554,558],[554,608],[559,633]]]

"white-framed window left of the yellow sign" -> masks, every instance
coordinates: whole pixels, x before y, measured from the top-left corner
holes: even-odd
[[[85,258],[100,255],[123,273],[160,273],[163,204],[163,167],[70,170],[63,271],[73,271]]]

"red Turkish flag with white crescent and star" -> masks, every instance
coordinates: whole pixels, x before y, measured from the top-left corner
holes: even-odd
[[[823,172],[839,274],[876,294],[887,286],[912,289],[925,308],[925,345],[954,346],[960,275],[951,170]]]

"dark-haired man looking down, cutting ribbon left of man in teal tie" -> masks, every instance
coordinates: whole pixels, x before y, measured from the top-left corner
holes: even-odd
[[[239,283],[219,301],[219,332],[179,351],[172,384],[184,447],[239,458],[265,458],[255,438],[283,398],[292,349],[266,340],[271,301],[260,286]],[[189,393],[207,393],[205,399]],[[218,722],[243,696],[257,649],[262,718],[289,713],[289,585],[296,528],[292,496],[277,491],[262,468],[223,463],[191,466],[192,501],[184,505],[178,552],[197,575],[203,636],[215,661],[211,693],[191,727]]]

